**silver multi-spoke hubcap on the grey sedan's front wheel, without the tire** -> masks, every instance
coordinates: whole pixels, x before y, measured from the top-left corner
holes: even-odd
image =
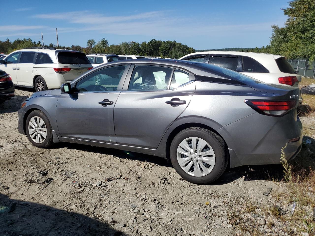
[[[28,123],[28,133],[35,143],[43,143],[47,137],[47,127],[43,119],[33,116]]]

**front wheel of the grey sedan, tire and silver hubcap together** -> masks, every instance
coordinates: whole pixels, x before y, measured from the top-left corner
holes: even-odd
[[[32,111],[26,118],[26,135],[30,142],[38,148],[48,148],[53,144],[50,122],[40,111]]]

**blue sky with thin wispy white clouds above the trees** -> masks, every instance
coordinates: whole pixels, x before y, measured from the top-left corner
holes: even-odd
[[[288,0],[3,1],[0,40],[31,38],[44,44],[86,46],[107,38],[175,40],[195,49],[261,47],[271,25],[283,26]],[[32,4],[30,4],[32,3]]]

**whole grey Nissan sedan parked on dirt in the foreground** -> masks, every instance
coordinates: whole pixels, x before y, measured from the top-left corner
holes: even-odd
[[[207,184],[227,165],[279,163],[286,144],[294,158],[299,98],[296,87],[216,65],[122,60],[34,93],[21,104],[19,132],[39,148],[70,142],[163,157],[187,181]]]

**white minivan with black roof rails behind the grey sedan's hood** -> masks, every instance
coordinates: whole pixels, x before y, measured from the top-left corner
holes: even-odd
[[[24,48],[0,60],[14,85],[36,91],[59,88],[92,68],[84,53],[56,48]]]

